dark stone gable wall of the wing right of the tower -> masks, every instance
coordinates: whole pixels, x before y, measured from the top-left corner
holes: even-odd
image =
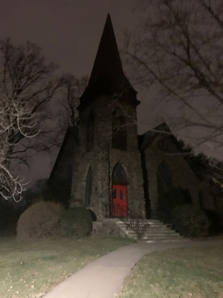
[[[151,204],[151,216],[157,217],[157,201],[158,201],[158,185],[157,185],[157,169],[160,163],[165,160],[170,166],[173,186],[188,189],[192,203],[199,207],[199,192],[202,192],[203,205],[205,209],[214,209],[213,198],[210,195],[208,183],[200,181],[188,163],[181,155],[165,153],[158,147],[157,137],[151,145],[145,150],[145,162],[148,172],[148,187],[149,187],[149,199]],[[175,145],[171,140],[173,152],[178,152]]]

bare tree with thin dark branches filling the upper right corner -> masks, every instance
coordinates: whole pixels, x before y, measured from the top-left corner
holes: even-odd
[[[138,3],[145,9],[143,27],[127,35],[125,47],[132,78],[173,104],[166,115],[171,128],[192,128],[197,145],[222,146],[223,1]]]

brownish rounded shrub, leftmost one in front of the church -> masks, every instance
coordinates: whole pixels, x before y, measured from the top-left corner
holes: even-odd
[[[61,204],[40,201],[32,204],[20,216],[17,237],[49,238],[61,235],[60,217],[64,212]]]

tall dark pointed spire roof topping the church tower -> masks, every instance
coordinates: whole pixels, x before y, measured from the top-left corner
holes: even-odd
[[[136,100],[136,91],[123,72],[112,20],[108,13],[88,86],[80,98],[78,109],[84,108],[101,94],[120,94],[124,91],[130,92],[135,103],[139,103]]]

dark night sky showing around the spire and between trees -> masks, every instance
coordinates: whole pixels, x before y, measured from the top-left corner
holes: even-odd
[[[10,37],[15,44],[30,40],[43,49],[48,60],[60,66],[61,73],[90,75],[107,13],[121,47],[125,29],[134,32],[140,23],[140,12],[133,12],[136,5],[135,0],[2,0],[0,39]],[[145,98],[139,92],[138,99],[142,101],[138,107],[140,132],[165,120],[160,112],[164,108],[157,107],[155,93]],[[210,145],[202,149],[210,156],[222,158],[222,150],[216,152]],[[48,177],[53,162],[40,155],[33,161],[29,175],[34,180]]]

